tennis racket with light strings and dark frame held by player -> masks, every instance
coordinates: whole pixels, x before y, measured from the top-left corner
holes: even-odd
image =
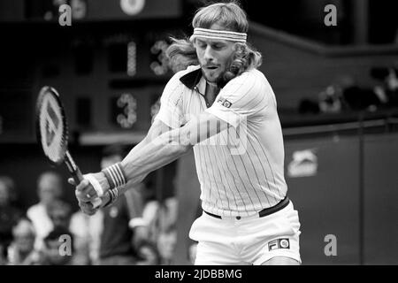
[[[83,180],[83,175],[68,151],[68,126],[65,110],[57,90],[54,88],[43,87],[37,97],[36,135],[37,142],[42,143],[42,150],[50,160],[50,164],[65,163],[74,182],[79,184]],[[92,204],[96,208],[101,202],[98,197]]]

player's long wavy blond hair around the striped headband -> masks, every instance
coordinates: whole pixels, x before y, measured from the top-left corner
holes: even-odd
[[[245,11],[236,3],[217,3],[200,8],[192,20],[192,27],[210,28],[214,24],[224,27],[226,30],[247,33],[249,22]],[[166,50],[170,65],[173,70],[180,70],[188,65],[198,65],[194,42],[188,38],[172,38],[172,44]],[[181,64],[181,62],[183,62]],[[235,53],[231,64],[224,74],[224,82],[232,80],[241,73],[256,68],[262,63],[261,53],[256,51],[248,43],[235,43]],[[178,66],[178,67],[176,67]]]

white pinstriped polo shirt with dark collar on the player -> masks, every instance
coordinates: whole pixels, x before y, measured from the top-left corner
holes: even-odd
[[[272,88],[253,69],[230,80],[207,103],[200,66],[176,73],[160,98],[160,119],[180,127],[203,111],[231,127],[194,146],[203,210],[249,216],[279,203],[287,194],[284,145]]]

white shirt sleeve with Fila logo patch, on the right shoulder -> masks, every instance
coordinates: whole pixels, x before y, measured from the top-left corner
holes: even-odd
[[[264,110],[272,91],[264,76],[242,73],[221,89],[215,102],[206,111],[233,127]]]

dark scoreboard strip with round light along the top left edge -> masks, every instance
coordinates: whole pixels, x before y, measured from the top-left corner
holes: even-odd
[[[67,4],[73,21],[170,19],[182,15],[182,0],[2,0],[0,21],[56,21]]]

